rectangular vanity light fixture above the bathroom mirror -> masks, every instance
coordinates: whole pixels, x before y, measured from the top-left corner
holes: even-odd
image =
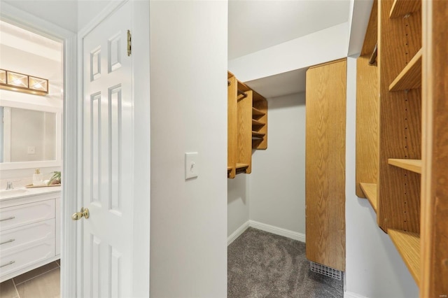
[[[0,89],[45,96],[48,94],[48,80],[0,69]]]

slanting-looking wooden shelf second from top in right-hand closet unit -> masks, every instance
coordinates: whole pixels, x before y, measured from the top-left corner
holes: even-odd
[[[421,87],[421,55],[422,50],[420,49],[389,85],[389,91],[402,91]]]

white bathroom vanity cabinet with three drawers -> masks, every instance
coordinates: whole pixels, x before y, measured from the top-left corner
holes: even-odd
[[[43,187],[0,199],[0,282],[59,259],[60,195]]]

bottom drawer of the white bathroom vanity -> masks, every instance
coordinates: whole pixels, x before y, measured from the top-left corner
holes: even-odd
[[[55,239],[36,243],[22,250],[14,250],[13,253],[1,254],[0,276],[29,267],[34,263],[41,262],[49,257],[55,256]]]

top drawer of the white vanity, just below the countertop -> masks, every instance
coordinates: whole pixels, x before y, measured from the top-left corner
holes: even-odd
[[[55,200],[37,201],[0,209],[0,231],[55,218]]]

